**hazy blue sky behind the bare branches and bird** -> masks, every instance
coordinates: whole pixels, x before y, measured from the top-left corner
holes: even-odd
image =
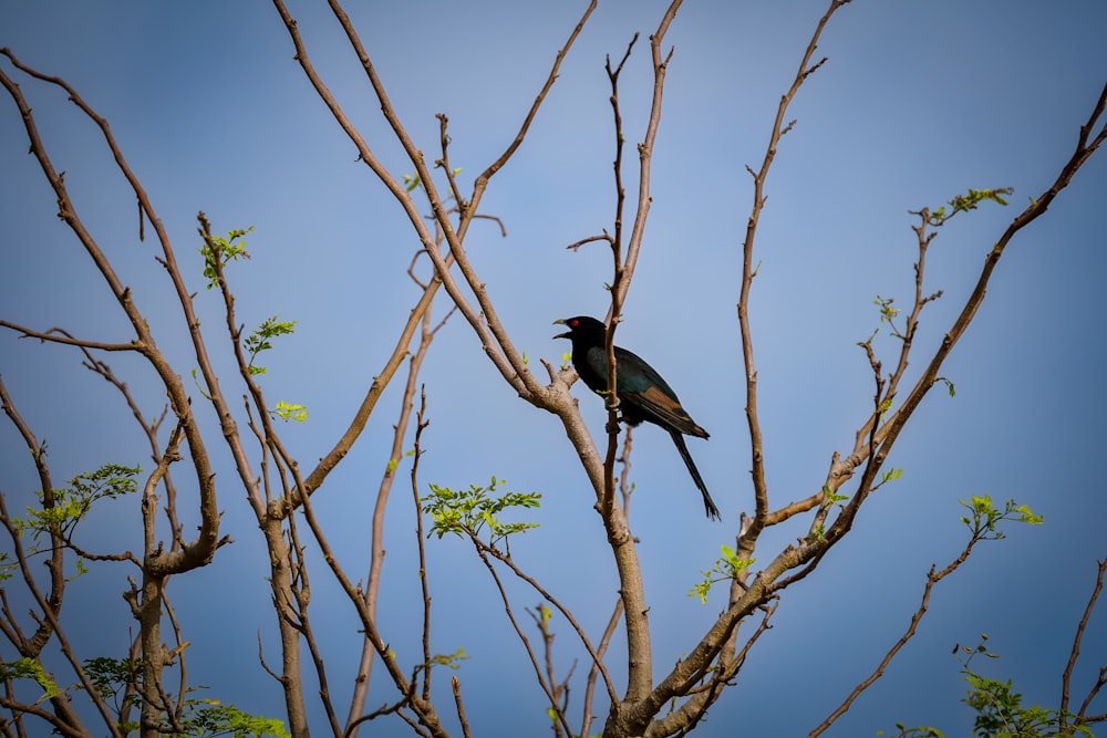
[[[692,439],[690,449],[724,522],[704,519],[665,434],[639,429],[632,526],[641,540],[659,676],[724,606],[723,590],[706,605],[686,592],[718,547],[733,544],[739,511],[753,507],[734,308],[752,198],[745,166],[759,166],[776,104],[825,6],[689,2],[666,38],[675,53],[654,153],[653,204],[619,343],[646,357],[711,433],[710,441]],[[410,2],[351,3],[349,11],[427,159],[437,155],[434,114],[449,116],[451,159],[463,167],[468,189],[514,137],[583,7]],[[312,61],[377,156],[397,177],[411,173],[333,18],[321,3],[290,10]],[[629,144],[624,174],[633,191],[633,144],[642,138],[650,95],[648,35],[663,10],[652,0],[600,3],[526,143],[482,202],[483,212],[503,219],[507,236],[475,222],[466,241],[531,366],[538,357],[558,363],[568,350],[550,337],[554,319],[602,316],[607,309],[607,248],[565,247],[611,228],[613,131],[603,60],[621,56],[641,32],[620,89]],[[877,294],[909,306],[917,251],[908,211],[937,207],[969,187],[1015,190],[1008,208],[989,205],[959,216],[935,239],[928,285],[944,297],[923,313],[918,370],[960,311],[987,249],[1069,157],[1105,81],[1104,28],[1107,6],[1098,0],[858,0],[831,21],[819,49],[829,61],[789,111],[798,122],[782,143],[758,231],[751,310],[775,507],[819,489],[831,454],[848,453],[868,413],[871,373],[856,343],[879,325]],[[111,122],[198,291],[207,340],[217,347],[231,397],[241,387],[229,381],[218,298],[203,289],[195,217],[204,210],[218,233],[255,227],[247,239],[252,259],[230,271],[239,316],[247,326],[275,313],[298,321],[296,334],[265,357],[262,386],[271,401],[310,409],[307,424],[284,429],[284,440],[301,467],[312,467],[345,428],[417,299],[404,269],[418,245],[292,61],[276,11],[266,3],[4,0],[0,45],[64,77]],[[77,211],[187,377],[195,360],[154,261],[152,231],[138,241],[134,198],[97,132],[59,90],[15,73],[7,60],[3,69],[31,101]],[[19,114],[6,96],[0,315],[90,340],[130,340],[93,264],[55,217],[54,196],[27,152]],[[889,459],[903,469],[902,479],[877,492],[849,538],[786,593],[773,630],[697,735],[797,736],[818,725],[906,628],[929,567],[943,567],[960,552],[966,534],[959,498],[984,493],[1028,505],[1045,524],[1010,527],[1006,540],[981,545],[942,582],[918,636],[828,735],[891,731],[897,721],[968,735],[972,713],[959,703],[965,685],[950,652],[958,643],[975,645],[981,633],[1002,655],[980,664],[981,671],[1012,677],[1028,705],[1057,706],[1095,563],[1107,555],[1099,318],[1107,276],[1105,157],[1100,152],[1013,242],[983,309],[943,368],[956,396],[928,396]],[[437,315],[445,297],[436,302]],[[875,345],[890,365],[898,346],[887,329]],[[0,373],[24,418],[48,439],[55,484],[108,461],[148,467],[126,408],[80,358],[62,346],[0,333]],[[159,412],[164,394],[142,362],[106,360],[147,413]],[[590,488],[559,423],[519,401],[459,316],[439,333],[423,381],[432,425],[424,435],[422,485],[467,487],[495,475],[511,490],[541,492],[542,507],[530,516],[541,527],[515,541],[513,554],[599,637],[615,599],[614,572]],[[369,522],[399,389],[385,393],[363,438],[313,498],[354,579],[368,567]],[[573,393],[599,437],[602,404],[579,386]],[[215,430],[198,392],[194,405]],[[257,661],[259,633],[267,658],[278,661],[263,540],[226,450],[215,440],[211,447],[223,480],[224,532],[235,543],[220,549],[214,565],[170,586],[193,643],[189,674],[194,684],[210,687],[204,696],[280,716],[281,693]],[[421,612],[404,484],[408,462],[389,511],[380,613],[382,634],[402,658],[416,657],[418,633],[411,623]],[[21,510],[38,484],[7,422],[0,423],[0,469],[9,508]],[[187,476],[177,474],[186,487]],[[79,531],[84,545],[141,550],[136,502],[94,511]],[[190,516],[186,531],[195,522]],[[797,520],[765,536],[761,563],[807,524]],[[528,726],[528,735],[548,729],[540,690],[487,573],[459,540],[432,540],[427,551],[433,647],[453,653],[463,646],[470,655],[456,675],[475,735],[506,735],[498,729],[508,725]],[[344,715],[360,649],[358,623],[318,557],[313,563],[312,612]],[[72,610],[63,623],[84,656],[122,655],[136,632],[120,597],[126,576],[136,573],[127,567],[95,567],[71,584]],[[519,614],[538,603],[531,592],[511,592]],[[560,673],[579,658],[582,679],[587,665],[569,627],[557,619],[554,627]],[[617,637],[611,664],[620,663],[621,652]],[[0,655],[13,657],[7,645]],[[1104,665],[1107,614],[1100,607],[1086,634],[1074,699],[1083,698]],[[441,711],[449,715],[445,674],[437,684]],[[573,725],[581,695],[578,680],[569,708]],[[391,687],[374,673],[369,705],[390,699]],[[324,732],[322,711],[314,703],[311,709],[314,729]],[[1101,699],[1093,711],[1104,711]],[[402,735],[404,728],[394,723],[377,730]]]

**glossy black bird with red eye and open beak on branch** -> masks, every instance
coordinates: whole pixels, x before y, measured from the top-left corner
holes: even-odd
[[[572,341],[572,365],[581,381],[592,392],[600,395],[607,394],[608,357],[606,343],[608,330],[603,323],[594,318],[578,315],[577,318],[556,320],[554,324],[563,324],[569,328],[567,333],[554,337]],[[707,493],[707,486],[703,484],[703,477],[695,468],[695,462],[692,461],[692,455],[689,454],[682,435],[706,438],[707,432],[696,425],[687,410],[681,407],[681,401],[676,397],[676,393],[652,366],[635,354],[619,346],[615,346],[615,391],[619,395],[622,420],[632,426],[642,420],[649,420],[654,425],[660,425],[673,437],[676,450],[681,453],[681,458],[687,465],[692,479],[695,480],[695,486],[703,495],[703,506],[707,510],[707,517],[718,520],[718,508],[715,507],[711,495]]]

